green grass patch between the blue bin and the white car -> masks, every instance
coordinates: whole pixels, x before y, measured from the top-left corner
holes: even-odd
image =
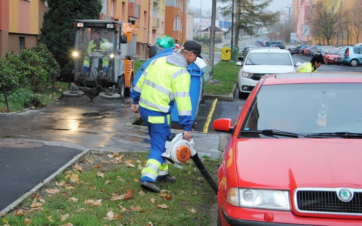
[[[238,82],[240,67],[235,62],[221,61],[214,65],[213,80],[205,84],[204,94],[227,95]]]

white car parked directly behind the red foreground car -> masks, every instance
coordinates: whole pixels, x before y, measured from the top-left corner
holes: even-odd
[[[239,98],[247,97],[264,75],[295,72],[292,56],[286,49],[251,49],[245,58],[239,57],[239,60],[241,62],[236,62],[241,66],[238,75]]]

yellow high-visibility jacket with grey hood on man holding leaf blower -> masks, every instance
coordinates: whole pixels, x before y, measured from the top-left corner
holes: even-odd
[[[190,131],[191,76],[186,69],[187,66],[188,63],[180,52],[153,60],[131,93],[133,103],[148,110],[168,114],[176,101],[179,123],[185,131]]]

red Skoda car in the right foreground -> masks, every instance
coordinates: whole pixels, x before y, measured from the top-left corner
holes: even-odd
[[[213,122],[218,226],[362,226],[362,73],[339,73],[263,76]]]

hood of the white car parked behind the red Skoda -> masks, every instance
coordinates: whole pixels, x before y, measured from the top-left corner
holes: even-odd
[[[281,74],[295,72],[292,65],[243,65],[242,71],[258,74]]]

